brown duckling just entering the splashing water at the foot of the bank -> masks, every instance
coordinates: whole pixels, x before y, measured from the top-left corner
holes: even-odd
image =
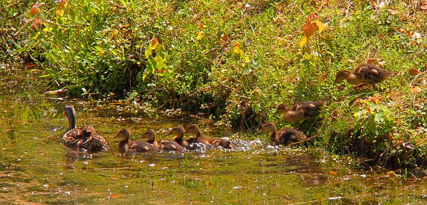
[[[268,132],[270,133],[270,139],[276,145],[287,146],[290,143],[302,141],[307,138],[307,135],[293,128],[282,128],[277,130],[276,125],[272,122],[267,122],[261,126],[261,129],[257,133]]]

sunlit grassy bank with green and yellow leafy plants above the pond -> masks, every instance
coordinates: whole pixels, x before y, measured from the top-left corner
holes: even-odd
[[[422,1],[0,5],[1,59],[37,64],[51,90],[204,111],[240,127],[295,126],[272,116],[276,105],[327,100],[322,120],[301,127],[318,136],[315,146],[377,163],[426,163]],[[318,28],[307,30],[314,21]],[[376,89],[333,85],[338,70],[366,61],[396,74]]]

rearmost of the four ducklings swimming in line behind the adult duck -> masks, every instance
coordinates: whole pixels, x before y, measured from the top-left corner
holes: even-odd
[[[204,143],[211,146],[222,146],[223,148],[235,148],[235,145],[227,139],[209,138],[200,133],[200,128],[197,124],[190,124],[185,129],[185,134],[192,133],[196,138],[188,139],[188,143]]]

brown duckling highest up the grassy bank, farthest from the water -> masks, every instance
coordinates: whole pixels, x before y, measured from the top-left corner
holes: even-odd
[[[361,64],[353,71],[339,70],[337,77],[335,77],[335,83],[340,83],[346,79],[352,85],[374,85],[391,77],[392,74],[394,72],[374,64]]]

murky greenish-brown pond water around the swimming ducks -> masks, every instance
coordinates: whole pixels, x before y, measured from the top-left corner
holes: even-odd
[[[427,197],[422,167],[369,169],[321,148],[275,147],[266,134],[232,131],[203,115],[147,117],[141,107],[120,102],[4,93],[0,204],[419,204]],[[77,126],[91,124],[105,137],[108,151],[62,145],[65,104],[75,105]],[[114,138],[127,127],[133,139],[147,128],[160,139],[173,125],[188,123],[239,148],[132,155],[120,153]]]

